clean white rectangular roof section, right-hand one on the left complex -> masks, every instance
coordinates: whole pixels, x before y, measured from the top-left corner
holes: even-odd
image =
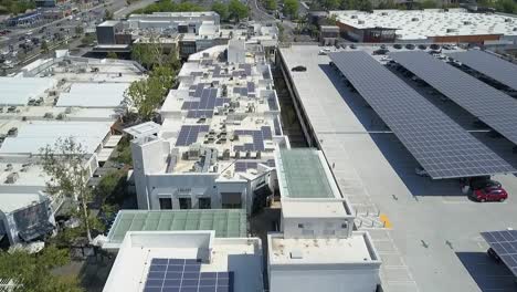
[[[73,83],[56,106],[118,107],[129,83]]]

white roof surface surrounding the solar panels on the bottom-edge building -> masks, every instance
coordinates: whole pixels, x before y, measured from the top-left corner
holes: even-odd
[[[152,259],[189,259],[201,261],[201,273],[233,272],[234,292],[262,292],[260,242],[214,238],[214,231],[129,231],[103,291],[141,292]]]

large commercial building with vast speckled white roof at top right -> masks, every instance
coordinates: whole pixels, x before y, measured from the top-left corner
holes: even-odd
[[[464,9],[331,11],[341,33],[366,43],[517,42],[517,18]]]

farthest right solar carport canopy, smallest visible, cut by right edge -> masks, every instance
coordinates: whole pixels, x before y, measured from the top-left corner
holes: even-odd
[[[479,50],[447,54],[484,75],[517,90],[517,65]]]

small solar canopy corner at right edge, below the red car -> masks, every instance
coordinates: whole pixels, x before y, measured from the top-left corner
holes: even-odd
[[[517,230],[490,231],[481,234],[517,277]]]

